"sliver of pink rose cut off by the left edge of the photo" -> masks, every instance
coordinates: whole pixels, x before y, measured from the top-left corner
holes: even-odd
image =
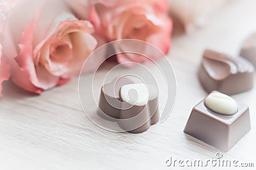
[[[5,57],[2,55],[2,45],[0,44],[0,97],[2,97],[2,83],[10,77],[10,65]]]

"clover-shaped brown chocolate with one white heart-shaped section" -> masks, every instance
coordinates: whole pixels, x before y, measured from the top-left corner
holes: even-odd
[[[103,85],[98,114],[106,120],[111,117],[124,131],[144,132],[159,121],[158,96],[156,87],[124,78]]]

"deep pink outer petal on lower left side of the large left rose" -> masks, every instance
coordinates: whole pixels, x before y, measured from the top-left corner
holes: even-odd
[[[19,64],[20,72],[16,71],[12,76],[12,80],[17,83],[23,89],[29,90],[31,92],[40,92],[41,89],[51,89],[54,87],[59,78],[56,76],[52,76],[49,72],[45,71],[42,67],[35,68],[34,60],[33,60],[33,31],[35,29],[35,24],[38,19],[38,12],[35,15],[35,18],[28,22],[24,29],[24,33],[20,38],[20,53],[15,60],[17,64]],[[12,64],[15,66],[16,64]],[[15,70],[18,70],[15,66]],[[21,75],[23,74],[23,75]],[[43,75],[44,74],[44,75]],[[19,75],[19,76],[17,76]],[[20,80],[20,76],[26,76]],[[24,82],[29,81],[29,82]],[[47,83],[45,83],[47,82]],[[32,85],[34,86],[32,86]]]

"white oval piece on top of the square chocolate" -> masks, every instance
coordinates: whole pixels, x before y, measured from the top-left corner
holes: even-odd
[[[205,106],[209,110],[222,115],[233,115],[238,110],[237,103],[226,94],[212,93],[205,99]]]

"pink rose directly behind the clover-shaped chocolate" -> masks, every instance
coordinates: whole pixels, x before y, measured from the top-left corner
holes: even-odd
[[[95,12],[92,13],[91,20],[97,34],[108,41],[140,39],[156,46],[164,54],[168,53],[172,21],[168,17],[167,1],[95,0],[93,2],[95,3]],[[120,47],[115,46],[115,48]],[[153,60],[158,60],[163,56],[154,55],[150,48],[143,49],[142,52]],[[117,60],[118,62],[145,62],[147,58],[131,53],[120,53],[117,55]]]

